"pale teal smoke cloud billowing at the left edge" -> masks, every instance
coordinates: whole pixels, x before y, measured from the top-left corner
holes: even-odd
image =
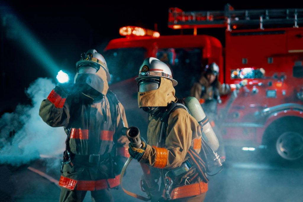
[[[0,118],[0,163],[18,166],[40,155],[62,154],[66,139],[63,128],[52,128],[39,116],[42,100],[54,87],[50,79],[38,78],[25,91],[32,105],[19,104],[15,112]]]

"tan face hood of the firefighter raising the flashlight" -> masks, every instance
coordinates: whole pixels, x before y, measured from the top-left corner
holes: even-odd
[[[103,95],[106,95],[108,91],[107,75],[102,67],[96,73],[77,73],[74,83],[77,86],[88,85]]]

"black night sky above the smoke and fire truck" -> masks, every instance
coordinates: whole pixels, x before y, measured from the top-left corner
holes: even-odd
[[[235,9],[303,7],[299,0],[275,4],[269,1],[129,2],[131,1],[0,1],[0,14],[3,16],[4,12],[9,12],[17,16],[59,66],[73,71],[82,52],[91,48],[102,51],[109,40],[120,37],[119,28],[124,25],[154,29],[154,24],[157,23],[161,35],[179,34],[179,31],[167,27],[170,7],[184,11],[223,10],[226,3]],[[222,29],[198,30],[198,34],[202,33],[213,35],[224,42]],[[57,73],[50,74],[40,68],[41,63],[20,47],[18,39],[6,39],[4,36],[2,43],[1,54],[5,59],[1,62],[1,67],[5,69],[5,85],[1,86],[0,115],[13,110],[17,103],[29,102],[24,89],[37,77],[54,78]]]

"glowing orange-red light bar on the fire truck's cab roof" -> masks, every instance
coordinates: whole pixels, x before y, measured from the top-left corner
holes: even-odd
[[[160,37],[159,32],[155,32],[151,29],[144,29],[142,27],[125,26],[119,30],[121,36],[152,36],[155,38]]]

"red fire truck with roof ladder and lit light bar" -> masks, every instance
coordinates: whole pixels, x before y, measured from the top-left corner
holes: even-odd
[[[274,159],[303,156],[303,9],[185,12],[169,8],[168,27],[192,35],[166,35],[136,26],[120,28],[104,56],[112,73],[111,89],[125,104],[129,125],[146,134],[147,114],[138,109],[134,78],[146,57],[156,57],[178,81],[176,95],[189,96],[194,82],[212,62],[219,81],[247,85],[218,104],[226,145],[243,150],[267,148]],[[225,28],[225,47],[197,29]],[[224,29],[219,29],[224,32]],[[200,30],[199,30],[200,31]]]

